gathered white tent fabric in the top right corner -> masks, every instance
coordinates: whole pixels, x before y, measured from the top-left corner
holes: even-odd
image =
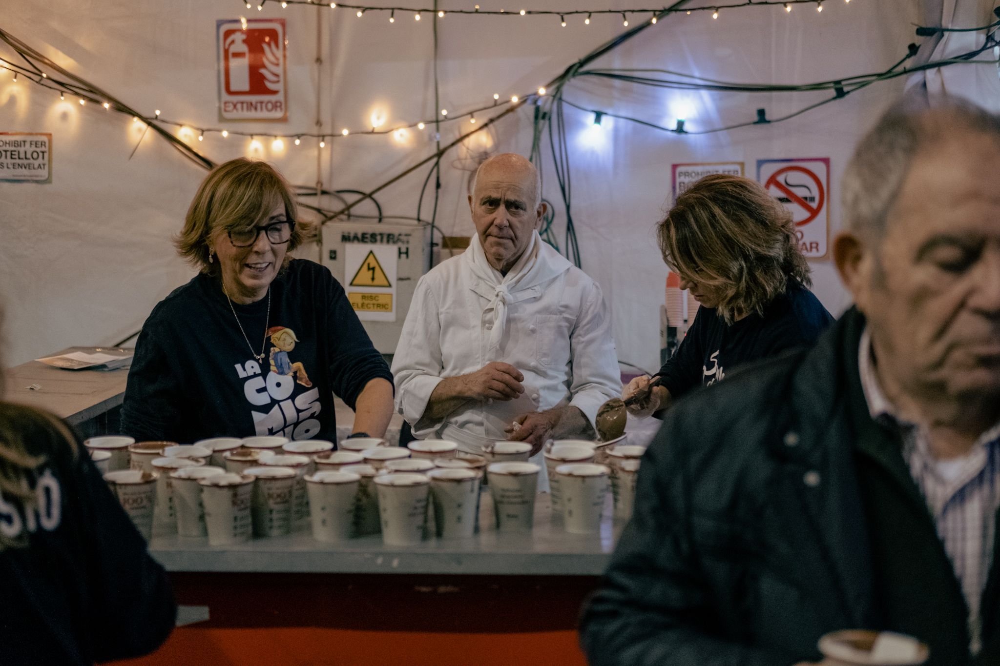
[[[935,28],[964,29],[996,22],[993,0],[921,0],[920,25]],[[980,49],[986,39],[982,31],[939,32],[927,38],[914,58],[914,66],[951,58]],[[966,98],[994,113],[1000,112],[1000,77],[997,76],[997,53],[987,49],[976,60],[992,61],[979,65],[936,68],[914,74],[906,84],[907,95],[927,104],[948,99]]]

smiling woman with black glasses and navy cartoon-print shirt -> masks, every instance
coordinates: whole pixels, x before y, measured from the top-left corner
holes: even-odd
[[[381,437],[392,374],[330,271],[293,259],[304,239],[288,183],[246,159],[216,167],[175,239],[199,274],[153,309],[136,343],[121,428],[182,443],[275,434]]]

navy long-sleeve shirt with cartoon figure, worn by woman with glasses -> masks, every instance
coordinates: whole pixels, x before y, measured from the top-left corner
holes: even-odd
[[[267,313],[267,297],[230,309],[218,279],[205,274],[160,302],[136,344],[122,433],[181,443],[255,434],[336,441],[333,395],[354,408],[369,380],[392,382],[328,269],[292,260],[271,283]]]

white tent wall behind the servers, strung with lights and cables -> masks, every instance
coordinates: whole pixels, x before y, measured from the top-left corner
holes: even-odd
[[[478,1],[484,8],[503,7],[501,0]],[[580,2],[525,0],[533,8],[554,10],[599,4]],[[630,0],[605,2],[621,9],[634,6]],[[323,131],[331,134],[367,127],[373,112],[385,114],[387,127],[393,127],[434,118],[439,111],[433,94],[433,17],[427,15],[417,23],[397,14],[390,24],[376,12],[358,19],[353,12],[328,7],[283,10],[277,2],[267,2],[260,12],[231,0],[10,4],[0,17],[4,30],[134,107],[148,114],[161,109],[164,118],[191,126],[291,137],[315,131],[317,109]],[[884,70],[915,41],[913,25],[920,17],[910,0],[828,1],[823,7],[822,13],[804,4],[790,13],[780,6],[724,9],[717,20],[706,12],[670,16],[594,66],[806,83]],[[290,112],[285,123],[218,119],[215,21],[241,13],[287,22]],[[647,18],[630,16],[632,21]],[[966,19],[956,10],[953,20]],[[567,22],[561,28],[554,17],[454,14],[438,20],[439,106],[460,112],[488,104],[494,93],[506,98],[533,91],[625,30],[616,16],[595,16],[589,26],[580,16]],[[0,46],[0,58],[10,56]],[[953,84],[949,77],[946,73],[943,79],[949,89],[973,85],[962,79]],[[653,227],[670,203],[672,164],[740,161],[753,178],[758,159],[828,157],[832,238],[839,226],[839,176],[853,144],[902,89],[902,79],[879,83],[787,122],[703,136],[676,136],[610,118],[598,131],[593,114],[567,109],[582,268],[611,305],[620,359],[650,369],[659,363],[659,307],[667,269],[653,242]],[[703,130],[753,120],[758,108],[776,118],[829,93],[691,92],[582,77],[567,85],[565,96],[585,108],[671,127],[683,117],[687,129]],[[468,121],[442,126],[442,141],[454,139],[463,125],[469,127]],[[160,299],[192,276],[170,238],[205,172],[160,139],[147,135],[140,143],[142,128],[130,118],[70,99],[60,102],[54,93],[23,80],[13,83],[9,75],[0,75],[0,132],[50,132],[54,144],[52,184],[0,183],[0,303],[6,311],[0,357],[15,364],[70,344],[111,343],[138,329]],[[474,158],[485,151],[527,154],[531,140],[532,108],[525,107],[446,156],[437,208],[445,235],[472,233],[465,197]],[[249,145],[248,139],[218,134],[189,141],[216,162],[247,155]],[[565,216],[547,137],[543,146],[544,195],[555,206],[556,235],[565,248]],[[294,183],[312,186],[319,180],[328,189],[371,190],[432,149],[428,128],[409,132],[403,141],[392,135],[338,136],[323,150],[315,142],[295,148],[286,141],[282,150],[265,145],[258,156]],[[416,214],[425,174],[422,169],[378,196],[387,215]],[[430,215],[430,195],[421,217]],[[333,200],[321,203],[337,206]],[[373,208],[365,204],[359,211],[370,215]],[[316,250],[306,254],[318,258]],[[849,299],[835,271],[829,261],[812,266],[814,291],[838,314]]]

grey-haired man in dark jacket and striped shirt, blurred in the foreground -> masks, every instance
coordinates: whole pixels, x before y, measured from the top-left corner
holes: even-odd
[[[856,307],[682,400],[583,616],[592,664],[786,666],[840,629],[1000,664],[1000,118],[890,112],[844,175]]]

